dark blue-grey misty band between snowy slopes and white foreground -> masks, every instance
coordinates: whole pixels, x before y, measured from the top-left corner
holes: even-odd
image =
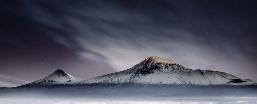
[[[0,89],[1,98],[185,98],[257,97],[257,86],[170,86],[136,84],[56,85]]]

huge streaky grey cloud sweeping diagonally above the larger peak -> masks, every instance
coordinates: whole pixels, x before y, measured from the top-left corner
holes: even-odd
[[[256,30],[251,30],[255,18],[243,15],[246,19],[238,19],[245,14],[243,5],[216,8],[210,5],[216,2],[202,3],[25,1],[22,4],[28,11],[18,13],[44,25],[44,33],[73,49],[79,58],[108,64],[117,71],[149,56],[160,56],[192,69],[257,80],[253,74]],[[247,70],[245,74],[242,69]]]

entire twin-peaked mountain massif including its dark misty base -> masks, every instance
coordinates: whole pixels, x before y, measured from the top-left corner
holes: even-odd
[[[43,79],[23,86],[0,88],[0,97],[14,96],[62,99],[192,96],[256,98],[257,83],[225,72],[192,70],[161,57],[148,57],[130,69],[92,79],[76,78],[58,69]]]

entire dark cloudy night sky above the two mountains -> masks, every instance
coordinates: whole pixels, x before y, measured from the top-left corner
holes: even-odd
[[[149,56],[257,81],[256,1],[0,2],[1,87],[57,69],[89,79]]]

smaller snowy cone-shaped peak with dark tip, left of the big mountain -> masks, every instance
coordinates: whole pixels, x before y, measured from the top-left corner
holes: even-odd
[[[80,79],[69,75],[63,70],[56,70],[54,73],[48,75],[43,79],[39,79],[32,83],[27,84],[28,86],[41,86],[41,85],[55,85],[55,84],[74,84],[85,79]]]

